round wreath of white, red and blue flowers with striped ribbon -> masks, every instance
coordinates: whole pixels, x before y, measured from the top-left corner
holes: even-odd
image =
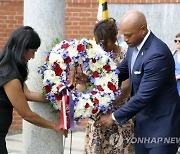
[[[112,56],[112,52],[105,52],[94,40],[86,38],[63,40],[47,52],[38,72],[47,99],[60,111],[60,128],[74,129],[74,120],[96,119],[98,114],[113,110],[112,102],[120,91],[119,71]],[[90,81],[84,93],[69,81],[71,68],[77,70],[79,66]]]

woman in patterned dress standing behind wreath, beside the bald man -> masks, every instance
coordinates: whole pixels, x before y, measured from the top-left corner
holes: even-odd
[[[96,42],[102,45],[105,51],[113,51],[113,59],[118,64],[125,53],[116,45],[117,33],[116,21],[113,18],[102,20],[94,27]],[[129,80],[122,83],[122,95],[114,102],[116,108],[129,98],[129,87]],[[121,127],[116,123],[109,128],[93,125],[94,121],[89,119],[86,128],[85,154],[134,154],[134,145],[130,142],[133,137],[132,120]]]

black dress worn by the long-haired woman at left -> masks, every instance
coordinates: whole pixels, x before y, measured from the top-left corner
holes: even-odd
[[[8,153],[5,137],[12,123],[13,112],[13,106],[4,91],[3,85],[13,79],[19,79],[16,71],[12,71],[4,77],[0,76],[0,154]]]

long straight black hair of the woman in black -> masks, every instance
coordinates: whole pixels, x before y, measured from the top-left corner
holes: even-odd
[[[24,82],[28,75],[24,53],[27,49],[39,48],[40,44],[39,35],[32,27],[22,26],[16,29],[9,37],[0,54],[0,76],[5,76],[15,69],[20,75],[21,81]]]

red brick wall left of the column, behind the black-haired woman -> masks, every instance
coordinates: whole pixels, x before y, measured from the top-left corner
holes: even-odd
[[[0,50],[14,29],[23,25],[23,0],[0,0]],[[13,112],[13,130],[22,128],[22,118]]]

